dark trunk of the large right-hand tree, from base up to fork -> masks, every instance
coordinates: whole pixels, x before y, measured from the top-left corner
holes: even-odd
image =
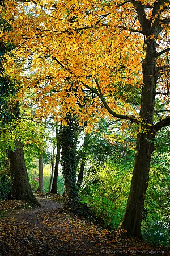
[[[119,229],[127,230],[130,236],[141,238],[141,218],[148,186],[151,154],[154,150],[155,132],[152,129],[156,89],[156,43],[155,39],[145,41],[146,59],[143,60],[143,88],[140,118],[142,133],[138,134],[135,164],[131,188],[124,218]]]

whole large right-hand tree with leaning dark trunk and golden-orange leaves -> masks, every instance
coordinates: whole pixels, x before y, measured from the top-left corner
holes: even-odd
[[[117,0],[114,5],[99,1],[58,1],[45,7],[50,15],[37,7],[39,15],[34,16],[34,20],[22,13],[29,38],[24,41],[22,55],[28,57],[32,52],[31,68],[39,69],[39,75],[35,72],[32,77],[32,84],[28,85],[23,77],[25,91],[33,87],[39,94],[35,98],[37,104],[40,102],[42,107],[48,102],[45,113],[55,113],[59,121],[67,114],[69,103],[80,123],[87,119],[94,123],[94,114],[137,123],[134,172],[120,229],[140,238],[155,135],[170,124],[170,117],[166,115],[169,108],[169,0],[155,0],[150,4],[145,0]],[[20,20],[16,20],[16,27],[19,23]],[[22,40],[22,33],[17,34],[18,40]],[[39,53],[35,53],[38,46],[41,46]],[[46,68],[49,64],[50,69]],[[66,77],[72,83],[65,84]],[[141,89],[140,109],[125,102],[117,93],[129,85]],[[68,98],[66,92],[70,86],[78,90],[72,91]],[[164,101],[159,121],[154,119],[157,97]],[[37,115],[42,112],[42,108],[37,109]]]

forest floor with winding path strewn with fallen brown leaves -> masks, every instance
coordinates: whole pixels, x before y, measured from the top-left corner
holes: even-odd
[[[170,255],[168,248],[122,238],[63,212],[61,197],[39,195],[37,199],[42,208],[17,200],[1,203],[1,256]]]

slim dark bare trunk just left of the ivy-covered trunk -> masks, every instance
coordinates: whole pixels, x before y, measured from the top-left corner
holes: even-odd
[[[56,139],[57,139],[57,154],[56,154],[56,163],[54,168],[54,177],[53,184],[50,193],[57,194],[57,181],[58,181],[58,171],[59,171],[59,154],[60,154],[60,138],[59,138],[59,128],[56,126]]]

